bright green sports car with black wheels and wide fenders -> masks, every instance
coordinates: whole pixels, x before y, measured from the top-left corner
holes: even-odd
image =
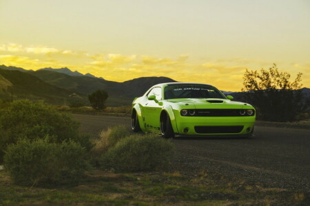
[[[232,100],[209,84],[156,84],[132,102],[132,130],[165,138],[250,137],[256,111],[250,104]]]

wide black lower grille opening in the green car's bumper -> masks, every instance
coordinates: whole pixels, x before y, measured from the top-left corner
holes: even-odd
[[[195,126],[196,133],[241,133],[243,126]]]

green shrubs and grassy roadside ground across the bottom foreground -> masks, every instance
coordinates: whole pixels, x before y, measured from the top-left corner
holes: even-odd
[[[8,121],[6,121],[8,119]],[[125,126],[81,135],[43,102],[1,108],[0,205],[307,205],[309,192],[174,170],[171,140]],[[12,138],[2,138],[12,137]],[[1,163],[0,163],[1,165]]]

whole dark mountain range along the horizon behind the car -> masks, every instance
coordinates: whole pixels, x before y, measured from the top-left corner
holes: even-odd
[[[109,94],[107,106],[130,105],[133,98],[139,97],[154,84],[176,82],[166,77],[142,77],[125,82],[113,82],[96,78],[92,74],[71,71],[68,68],[44,68],[37,71],[20,67],[0,65],[0,98],[28,98],[46,100],[52,104],[63,104],[70,97],[81,98],[87,102],[87,95],[98,89]],[[234,95],[236,100],[240,92],[223,91],[225,95]],[[303,88],[302,93],[310,95],[310,89]]]

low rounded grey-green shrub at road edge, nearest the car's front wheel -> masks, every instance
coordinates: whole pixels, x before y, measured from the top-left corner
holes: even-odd
[[[157,135],[131,135],[118,141],[101,159],[103,168],[121,172],[163,168],[174,155],[174,144]]]

